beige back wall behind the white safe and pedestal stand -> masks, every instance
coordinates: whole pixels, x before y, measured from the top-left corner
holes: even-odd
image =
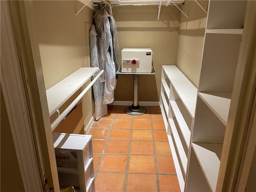
[[[140,75],[139,101],[158,102],[162,65],[175,65],[178,47],[180,11],[175,6],[162,6],[157,20],[157,6],[114,7],[118,28],[119,62],[123,48],[151,48],[156,75]],[[133,76],[119,75],[116,101],[133,100]]]

